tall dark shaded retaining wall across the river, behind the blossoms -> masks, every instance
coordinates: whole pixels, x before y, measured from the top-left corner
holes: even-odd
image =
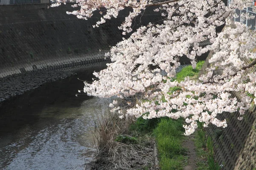
[[[98,12],[89,20],[74,15],[70,4],[48,8],[50,4],[0,6],[0,77],[18,74],[37,68],[57,69],[84,64],[91,59],[103,58],[109,46],[122,40],[117,27],[131,9],[121,12],[118,18],[93,28],[101,17]],[[148,16],[150,14],[150,17]],[[146,10],[134,24],[138,28],[162,17]]]

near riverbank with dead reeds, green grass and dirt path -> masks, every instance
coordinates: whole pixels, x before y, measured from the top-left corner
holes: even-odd
[[[191,65],[181,66],[177,70],[177,81],[187,76],[198,77],[203,64],[204,61],[198,62],[195,69]],[[173,88],[172,92],[179,90]],[[214,161],[212,142],[202,125],[196,137],[188,137],[183,135],[185,121],[182,118],[119,119],[116,114],[109,115],[103,122],[99,121],[94,131],[98,155],[91,170],[209,170],[219,167]],[[145,152],[145,148],[150,151]]]

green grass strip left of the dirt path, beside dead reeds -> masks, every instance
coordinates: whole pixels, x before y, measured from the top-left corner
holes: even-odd
[[[187,150],[181,146],[185,136],[183,119],[171,119],[168,117],[143,119],[138,118],[137,121],[130,126],[131,136],[136,136],[138,139],[143,136],[154,136],[157,141],[157,150],[159,157],[159,164],[161,170],[183,170],[187,164]],[[140,134],[138,137],[138,133]],[[137,138],[138,137],[138,138]],[[122,136],[117,140],[122,141]],[[123,141],[122,141],[123,142]],[[125,141],[127,142],[127,141]],[[133,142],[129,137],[128,142]],[[143,167],[146,169],[147,167]]]

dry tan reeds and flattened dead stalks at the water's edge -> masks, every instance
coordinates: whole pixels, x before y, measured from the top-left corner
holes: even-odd
[[[132,117],[120,119],[117,113],[97,114],[92,130],[97,147],[91,170],[156,170],[157,152],[152,135],[131,132]],[[133,133],[133,134],[131,134]]]

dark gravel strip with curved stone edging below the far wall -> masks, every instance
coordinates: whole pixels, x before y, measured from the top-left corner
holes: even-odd
[[[66,63],[61,61],[62,65],[54,65],[55,63],[52,63],[50,66],[44,65],[31,70],[24,69],[25,71],[18,74],[11,74],[0,78],[0,105],[6,99],[23,94],[46,82],[64,79],[74,75],[76,71],[90,70],[93,67],[97,67],[98,63],[105,65],[107,62],[109,62],[108,59],[103,59],[99,55],[86,60],[73,59],[73,62]]]

